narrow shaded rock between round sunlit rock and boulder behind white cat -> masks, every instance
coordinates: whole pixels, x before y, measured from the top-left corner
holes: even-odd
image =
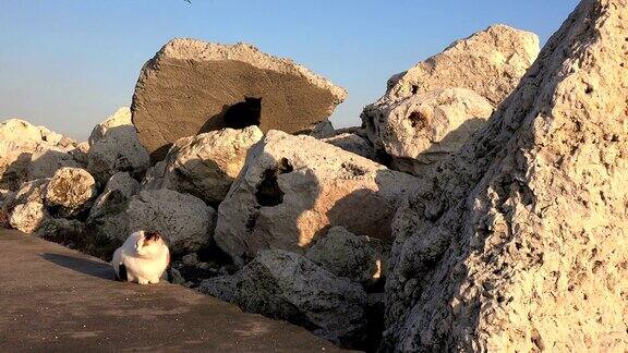
[[[102,247],[122,243],[129,236],[126,207],[133,195],[140,192],[140,183],[126,172],[118,172],[109,179],[105,191],[96,200],[87,218],[88,235]]]

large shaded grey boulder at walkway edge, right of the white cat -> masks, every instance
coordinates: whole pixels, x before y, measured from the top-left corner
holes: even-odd
[[[241,278],[234,302],[245,312],[302,325],[339,344],[364,339],[366,293],[301,255],[259,252]]]

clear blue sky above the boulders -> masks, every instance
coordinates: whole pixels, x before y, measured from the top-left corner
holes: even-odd
[[[254,44],[349,90],[336,126],[360,124],[386,80],[491,24],[541,41],[576,0],[0,0],[0,120],[76,138],[129,106],[142,64],[170,38]]]

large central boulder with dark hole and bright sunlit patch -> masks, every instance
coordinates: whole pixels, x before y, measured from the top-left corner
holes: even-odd
[[[313,137],[269,131],[220,204],[215,239],[240,266],[258,249],[303,253],[334,226],[391,241],[392,217],[416,182]]]

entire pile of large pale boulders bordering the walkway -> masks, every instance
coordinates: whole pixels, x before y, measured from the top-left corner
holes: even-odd
[[[0,125],[0,223],[107,259],[158,231],[173,282],[347,348],[625,346],[627,8],[583,0],[528,74],[533,34],[456,41],[345,130],[306,69],[170,41],[86,143]]]

